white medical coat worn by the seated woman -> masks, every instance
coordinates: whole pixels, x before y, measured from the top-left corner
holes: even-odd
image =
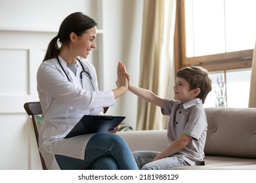
[[[37,71],[37,92],[44,117],[39,133],[39,150],[48,169],[60,169],[54,154],[83,159],[85,147],[93,134],[63,138],[83,115],[102,114],[102,107],[115,105],[112,90],[98,91],[95,67],[91,63],[80,59],[91,76],[90,80],[83,75],[81,80],[79,75],[83,69],[78,61],[75,76],[66,61],[60,56],[58,58],[66,74],[56,58],[43,61]]]

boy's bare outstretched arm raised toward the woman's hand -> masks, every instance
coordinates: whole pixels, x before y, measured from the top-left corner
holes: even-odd
[[[164,104],[163,99],[158,97],[158,95],[154,94],[150,90],[146,90],[143,88],[139,88],[138,86],[134,86],[133,84],[131,84],[131,82],[129,82],[128,90],[130,92],[134,93],[135,95],[137,95],[138,97],[140,97],[150,103],[153,103],[154,105],[163,107],[163,104]]]

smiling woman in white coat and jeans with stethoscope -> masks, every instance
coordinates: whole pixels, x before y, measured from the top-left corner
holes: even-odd
[[[37,71],[37,92],[44,121],[39,150],[48,169],[138,169],[127,143],[110,133],[64,137],[85,114],[102,114],[103,107],[128,89],[122,63],[117,88],[98,91],[95,67],[85,61],[96,48],[96,22],[81,12],[67,16],[47,48]],[[58,47],[57,42],[61,46]]]

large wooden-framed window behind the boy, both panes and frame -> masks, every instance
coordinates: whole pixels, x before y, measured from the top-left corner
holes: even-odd
[[[210,72],[207,107],[248,105],[255,7],[255,0],[177,1],[175,70],[199,65]]]

